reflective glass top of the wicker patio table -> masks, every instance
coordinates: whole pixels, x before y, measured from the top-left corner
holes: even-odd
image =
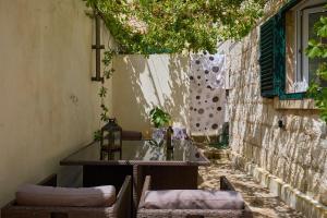
[[[94,142],[60,161],[64,166],[84,165],[208,165],[209,160],[189,140],[173,140],[172,149],[166,142],[122,141],[121,152],[101,155],[99,142]],[[104,153],[104,152],[102,152]]]

